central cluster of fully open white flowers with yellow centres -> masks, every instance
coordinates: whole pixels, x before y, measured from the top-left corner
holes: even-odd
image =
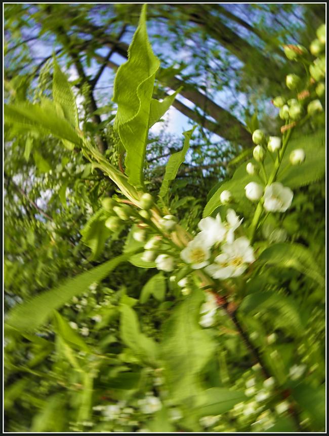
[[[254,251],[246,237],[234,240],[234,231],[241,222],[242,219],[232,209],[228,209],[224,222],[219,214],[216,218],[201,219],[198,224],[201,231],[181,251],[181,258],[193,269],[205,268],[214,279],[241,275],[248,263],[255,260]],[[222,243],[221,253],[210,264],[212,247]]]

